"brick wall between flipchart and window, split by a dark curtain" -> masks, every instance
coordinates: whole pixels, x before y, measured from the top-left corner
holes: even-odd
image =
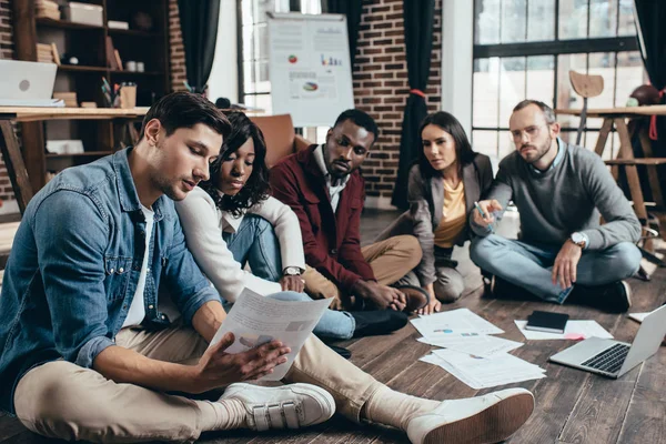
[[[435,0],[428,112],[442,104],[442,0]],[[391,198],[400,159],[400,134],[410,85],[405,54],[403,0],[364,0],[353,70],[357,108],[375,118],[380,139],[363,163],[369,200]],[[379,203],[376,206],[384,206]]]

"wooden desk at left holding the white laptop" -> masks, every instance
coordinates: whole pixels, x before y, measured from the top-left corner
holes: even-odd
[[[0,107],[0,150],[7,165],[11,186],[21,214],[33,195],[33,189],[23,161],[19,140],[11,122],[36,122],[48,120],[112,120],[137,119],[145,115],[148,108],[20,108]]]

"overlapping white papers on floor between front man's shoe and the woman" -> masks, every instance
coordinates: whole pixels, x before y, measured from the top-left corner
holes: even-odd
[[[522,343],[490,336],[504,331],[467,309],[422,316],[412,324],[423,334],[420,342],[446,349],[421,361],[441,366],[472,389],[546,376],[544,369],[507,353]]]

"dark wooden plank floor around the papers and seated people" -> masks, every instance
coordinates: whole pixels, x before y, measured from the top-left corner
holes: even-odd
[[[369,213],[364,216],[363,239],[367,243],[386,226],[396,213]],[[457,254],[464,259],[464,250]],[[511,443],[666,443],[666,347],[643,365],[617,381],[591,373],[549,364],[548,356],[573,344],[571,341],[526,342],[514,320],[524,320],[533,310],[558,310],[571,319],[596,320],[617,340],[630,342],[638,324],[625,315],[534,301],[493,300],[483,296],[477,271],[468,261],[461,263],[468,287],[465,296],[446,309],[468,307],[506,333],[502,337],[525,342],[512,352],[546,369],[547,377],[509,386],[531,390],[536,411],[514,435]],[[634,306],[644,312],[666,300],[666,269],[657,269],[652,282],[632,279]],[[411,326],[389,335],[341,342],[352,353],[352,362],[394,390],[433,400],[460,398],[491,392],[475,391],[444,370],[417,360],[431,347],[416,341],[420,334]],[[504,389],[507,386],[496,387]],[[494,389],[495,390],[495,389]],[[37,443],[47,440],[24,430],[16,420],[0,417],[0,443]],[[344,418],[297,433],[231,432],[204,434],[206,443],[407,443],[397,431],[353,424]]]

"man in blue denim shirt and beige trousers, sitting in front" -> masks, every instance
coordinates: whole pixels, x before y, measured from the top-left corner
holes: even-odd
[[[32,199],[0,296],[0,408],[68,441],[192,442],[202,431],[297,428],[336,406],[351,420],[400,427],[414,443],[470,427],[482,430],[478,442],[515,432],[534,405],[525,390],[443,403],[407,396],[314,336],[285,377],[296,384],[239,383],[271,373],[290,350],[272,341],[228,354],[231,333],[208,349],[225,313],[173,208],[208,179],[229,131],[206,99],[170,94],[148,112],[137,147],[63,171]],[[160,283],[178,323],[160,311]],[[228,389],[213,402],[169,394],[219,387]]]

